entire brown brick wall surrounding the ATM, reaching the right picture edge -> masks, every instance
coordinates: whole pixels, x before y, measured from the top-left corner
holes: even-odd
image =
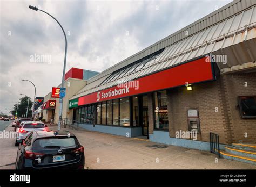
[[[242,95],[256,95],[256,73],[221,75],[217,81],[193,85],[192,91],[186,87],[167,90],[170,137],[175,137],[176,131],[188,131],[187,109],[198,109],[201,134],[197,140],[209,141],[209,132],[213,132],[219,134],[220,143],[256,143],[256,119],[240,117],[238,96]],[[149,111],[150,134],[153,112]]]

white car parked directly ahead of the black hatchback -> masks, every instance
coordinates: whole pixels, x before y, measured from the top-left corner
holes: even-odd
[[[44,125],[41,121],[22,121],[16,129],[15,146],[22,143],[22,140],[24,140],[31,131],[46,131],[46,127],[47,125]]]

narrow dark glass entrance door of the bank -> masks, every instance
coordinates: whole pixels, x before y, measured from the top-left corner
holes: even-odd
[[[149,138],[149,114],[147,107],[147,96],[142,96],[142,134]]]

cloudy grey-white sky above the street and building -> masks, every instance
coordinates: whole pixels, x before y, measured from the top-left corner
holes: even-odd
[[[103,71],[229,2],[1,0],[0,111],[8,113],[19,93],[33,97],[32,84],[22,78],[36,84],[38,97],[62,80],[62,30],[29,5],[51,13],[68,34],[66,71]]]

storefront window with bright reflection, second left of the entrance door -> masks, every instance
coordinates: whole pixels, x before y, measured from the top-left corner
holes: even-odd
[[[120,126],[130,126],[129,97],[120,99]]]

